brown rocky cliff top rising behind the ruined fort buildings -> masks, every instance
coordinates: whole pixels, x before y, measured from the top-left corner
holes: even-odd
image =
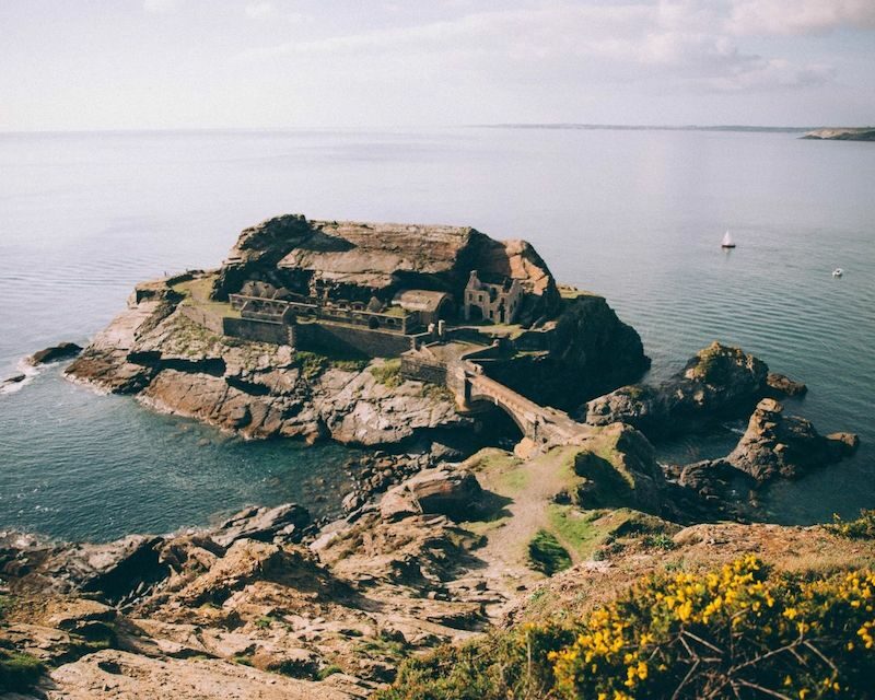
[[[558,308],[552,276],[525,241],[494,241],[471,228],[307,221],[300,214],[243,231],[213,298],[224,300],[245,281],[257,280],[301,294],[328,287],[350,300],[368,301],[371,294],[385,300],[416,288],[450,292],[460,301],[471,269],[518,279],[533,295],[523,310],[528,322]]]

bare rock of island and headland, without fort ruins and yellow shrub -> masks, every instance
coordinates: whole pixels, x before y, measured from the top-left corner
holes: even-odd
[[[326,222],[305,256],[289,247],[290,231],[315,235],[305,224],[287,218],[247,230],[242,253],[218,275],[189,275],[185,293],[174,279],[138,287],[66,375],[248,439],[368,447],[346,465],[353,489],[326,494],[343,516],[314,522],[287,503],[254,505],[214,527],[108,544],[2,534],[0,679],[12,673],[8,660],[33,672],[19,688],[25,695],[0,688],[3,700],[366,698],[393,682],[405,660],[529,619],[538,605],[591,606],[599,591],[663,565],[668,551],[699,563],[775,542],[817,561],[832,561],[824,548],[847,555],[822,528],[720,523],[742,520],[739,506],[769,482],[802,478],[855,450],[854,435],[820,435],[784,413],[780,399],[804,394],[803,384],[718,342],[658,386],[630,384],[648,366],[638,334],[602,298],[560,292],[527,244],[440,229],[430,235],[445,243],[441,256],[417,258],[409,272],[456,283],[459,250],[487,250],[491,264],[508,260],[539,290],[529,311],[542,317],[488,326],[494,337],[488,352],[478,350],[480,369],[466,370],[503,382],[510,418],[497,419],[498,395],[492,405],[460,405],[450,375],[462,365],[443,366],[450,381],[440,384],[405,376],[397,360],[302,352],[211,329],[210,305],[225,302],[205,295],[194,306],[192,290],[266,275],[266,259],[276,266],[296,255],[296,275],[312,254],[345,280],[353,275],[331,256],[352,249],[361,262],[361,254],[326,242],[326,226],[334,230]],[[363,235],[355,231],[349,235]],[[416,241],[405,245],[421,252]],[[369,283],[394,283],[377,271],[369,268]],[[548,318],[547,308],[557,315]],[[78,353],[59,346],[37,355]],[[520,420],[533,400],[548,399],[578,407],[580,422],[551,407],[537,407],[529,424]],[[749,419],[724,457],[657,462],[652,441],[727,417]],[[550,420],[574,428],[574,440],[539,445],[541,421]],[[510,446],[511,436],[529,448],[495,446]],[[856,553],[873,557],[871,549]]]

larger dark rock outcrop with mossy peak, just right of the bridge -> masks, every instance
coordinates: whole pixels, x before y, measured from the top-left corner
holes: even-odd
[[[590,401],[581,412],[592,425],[621,421],[649,438],[662,438],[749,410],[766,393],[768,375],[761,360],[714,342],[668,382],[625,386]]]

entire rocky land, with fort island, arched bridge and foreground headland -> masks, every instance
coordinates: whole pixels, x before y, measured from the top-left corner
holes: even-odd
[[[733,521],[761,485],[838,462],[855,436],[785,416],[804,386],[738,348],[715,342],[658,386],[637,383],[648,366],[634,329],[525,242],[301,215],[245,230],[220,269],[139,284],[66,373],[248,439],[366,446],[355,490],[327,494],[331,522],[256,504],[109,544],[5,533],[0,693],[805,697],[798,664],[853,690],[873,660],[833,651],[870,649],[875,527]],[[727,416],[749,420],[725,457],[657,460],[652,441]],[[788,597],[794,576],[822,580],[818,595],[845,582],[858,605],[829,620],[853,620],[848,639],[809,642],[798,626],[827,622]],[[658,633],[627,652],[617,632],[620,661],[585,648],[633,585],[680,586]],[[724,649],[721,606],[745,639],[749,616],[774,610],[771,646],[742,656],[730,632]],[[670,692],[648,685],[661,678]]]

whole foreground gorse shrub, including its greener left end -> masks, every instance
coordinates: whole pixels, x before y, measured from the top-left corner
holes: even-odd
[[[775,574],[754,556],[643,580],[571,623],[408,662],[384,700],[875,697],[875,572]]]

